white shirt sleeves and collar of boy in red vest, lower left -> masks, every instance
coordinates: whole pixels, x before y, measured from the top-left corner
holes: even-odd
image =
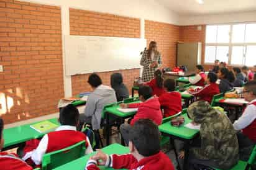
[[[60,131],[60,130],[75,130],[76,131],[76,127],[62,125],[62,126],[58,127],[55,131]],[[86,136],[86,141],[88,142],[88,147],[85,150],[85,154],[92,153],[93,148],[91,147],[91,143],[89,142],[89,138],[87,136]],[[34,161],[34,163],[36,165],[41,164],[43,154],[46,153],[47,146],[48,146],[48,135],[46,134],[43,136],[42,140],[40,140],[39,146],[37,146],[37,148],[35,150],[26,153],[22,159],[25,161],[26,159],[31,158],[32,161]]]

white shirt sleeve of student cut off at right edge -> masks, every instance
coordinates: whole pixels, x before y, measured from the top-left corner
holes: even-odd
[[[256,106],[252,104],[253,102],[256,102],[256,99],[247,105],[241,117],[233,123],[235,130],[242,130],[248,127],[256,119]]]

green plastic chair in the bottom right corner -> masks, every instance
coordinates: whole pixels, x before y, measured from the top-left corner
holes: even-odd
[[[229,170],[252,170],[252,165],[255,164],[255,158],[256,158],[256,145],[254,146],[254,150],[252,150],[252,153],[250,154],[250,158],[247,162],[239,161],[233,168]],[[222,169],[216,169],[216,170],[222,170]]]

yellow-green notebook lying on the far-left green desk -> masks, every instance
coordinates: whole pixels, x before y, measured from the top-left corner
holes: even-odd
[[[59,125],[56,125],[55,123],[52,123],[48,120],[45,120],[40,123],[35,123],[34,125],[30,125],[30,128],[33,128],[39,133],[48,133],[55,130]]]

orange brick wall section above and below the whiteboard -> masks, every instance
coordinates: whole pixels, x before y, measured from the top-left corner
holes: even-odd
[[[140,37],[140,20],[100,12],[70,9],[70,35],[94,35],[109,37]],[[99,73],[103,83],[110,84],[110,75],[117,71]],[[131,89],[134,78],[139,76],[139,69],[121,70],[124,83]],[[87,83],[89,74],[72,76],[72,93],[91,91]]]

